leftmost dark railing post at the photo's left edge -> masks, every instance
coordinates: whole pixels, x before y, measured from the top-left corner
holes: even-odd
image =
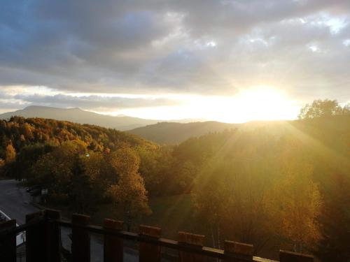
[[[0,223],[0,231],[13,230],[16,228],[16,221],[9,220]],[[16,261],[16,235],[15,233],[6,233],[0,237],[0,261]]]

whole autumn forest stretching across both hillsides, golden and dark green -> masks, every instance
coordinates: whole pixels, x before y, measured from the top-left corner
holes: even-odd
[[[88,124],[12,117],[0,121],[0,176],[39,184],[49,191],[46,201],[73,212],[110,204],[127,221],[150,215],[150,198],[190,194],[192,219],[213,247],[230,239],[272,258],[284,248],[345,262],[349,112],[317,100],[294,121],[174,146]]]

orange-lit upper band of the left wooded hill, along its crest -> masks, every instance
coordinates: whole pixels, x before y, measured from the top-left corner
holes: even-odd
[[[0,138],[0,159],[6,158],[8,144],[12,144],[16,152],[32,145],[59,146],[67,141],[75,141],[88,150],[98,152],[113,151],[123,146],[157,147],[144,138],[116,129],[43,118],[11,117],[0,120]]]

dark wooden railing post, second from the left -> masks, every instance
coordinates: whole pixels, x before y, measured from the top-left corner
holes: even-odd
[[[26,223],[43,219],[43,212],[35,212],[27,214],[25,217]],[[26,231],[26,261],[27,262],[46,262],[48,245],[46,242],[46,227],[45,221],[30,226]]]

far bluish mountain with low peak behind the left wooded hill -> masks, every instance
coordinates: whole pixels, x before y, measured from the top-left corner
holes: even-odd
[[[56,120],[65,120],[78,124],[95,124],[121,131],[134,129],[139,126],[155,124],[160,120],[142,119],[120,115],[112,117],[100,115],[95,112],[81,110],[80,108],[50,108],[46,106],[30,105],[25,109],[15,112],[6,112],[0,115],[0,119],[9,119],[13,116],[20,117],[41,117]]]

